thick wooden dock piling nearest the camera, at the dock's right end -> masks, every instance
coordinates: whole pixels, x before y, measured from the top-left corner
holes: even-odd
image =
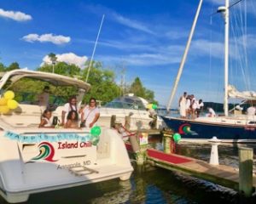
[[[253,195],[253,149],[239,149],[239,193],[245,197]]]

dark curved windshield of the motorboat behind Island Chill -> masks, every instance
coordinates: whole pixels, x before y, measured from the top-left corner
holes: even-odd
[[[115,109],[132,109],[132,110],[146,110],[145,105],[141,99],[137,97],[119,97],[113,99],[107,105],[104,105],[106,108],[115,108]]]

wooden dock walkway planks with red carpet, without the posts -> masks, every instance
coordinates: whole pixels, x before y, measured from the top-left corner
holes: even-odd
[[[205,161],[196,160],[176,154],[148,149],[147,159],[154,165],[175,172],[186,173],[195,178],[205,179],[233,190],[239,190],[239,172],[234,167],[210,165]],[[173,161],[172,161],[173,160]],[[177,162],[184,161],[184,162]],[[253,187],[256,188],[256,176],[253,176]]]

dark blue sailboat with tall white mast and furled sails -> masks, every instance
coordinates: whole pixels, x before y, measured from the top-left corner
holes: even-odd
[[[173,96],[177,88],[177,82],[181,76],[183,65],[188,54],[189,44],[191,42],[195,24],[201,10],[199,3],[195,20],[189,34],[189,41],[183,54],[183,60],[180,64],[180,69],[177,73],[176,81],[172,88],[172,95],[167,108],[170,108]],[[225,6],[219,7],[218,12],[224,15],[224,116],[207,117],[201,116],[194,120],[177,118],[173,116],[163,116],[164,122],[168,127],[171,127],[175,133],[179,133],[183,140],[200,141],[217,137],[222,142],[256,142],[256,116],[230,116],[228,110],[229,97],[241,97],[244,99],[253,99],[253,94],[250,92],[239,93],[236,88],[231,87],[228,82],[229,77],[229,28],[230,28],[230,1],[225,0]],[[254,98],[255,99],[255,98]]]

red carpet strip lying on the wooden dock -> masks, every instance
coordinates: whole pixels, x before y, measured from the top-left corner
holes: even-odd
[[[193,160],[189,160],[187,158],[183,158],[181,156],[177,156],[177,155],[171,155],[171,154],[166,154],[162,151],[159,150],[147,150],[148,152],[148,156],[152,157],[154,159],[158,159],[160,161],[166,161],[166,162],[170,162],[170,163],[174,163],[174,164],[179,164],[179,163],[185,163],[185,162],[189,162],[189,161],[193,161]]]

